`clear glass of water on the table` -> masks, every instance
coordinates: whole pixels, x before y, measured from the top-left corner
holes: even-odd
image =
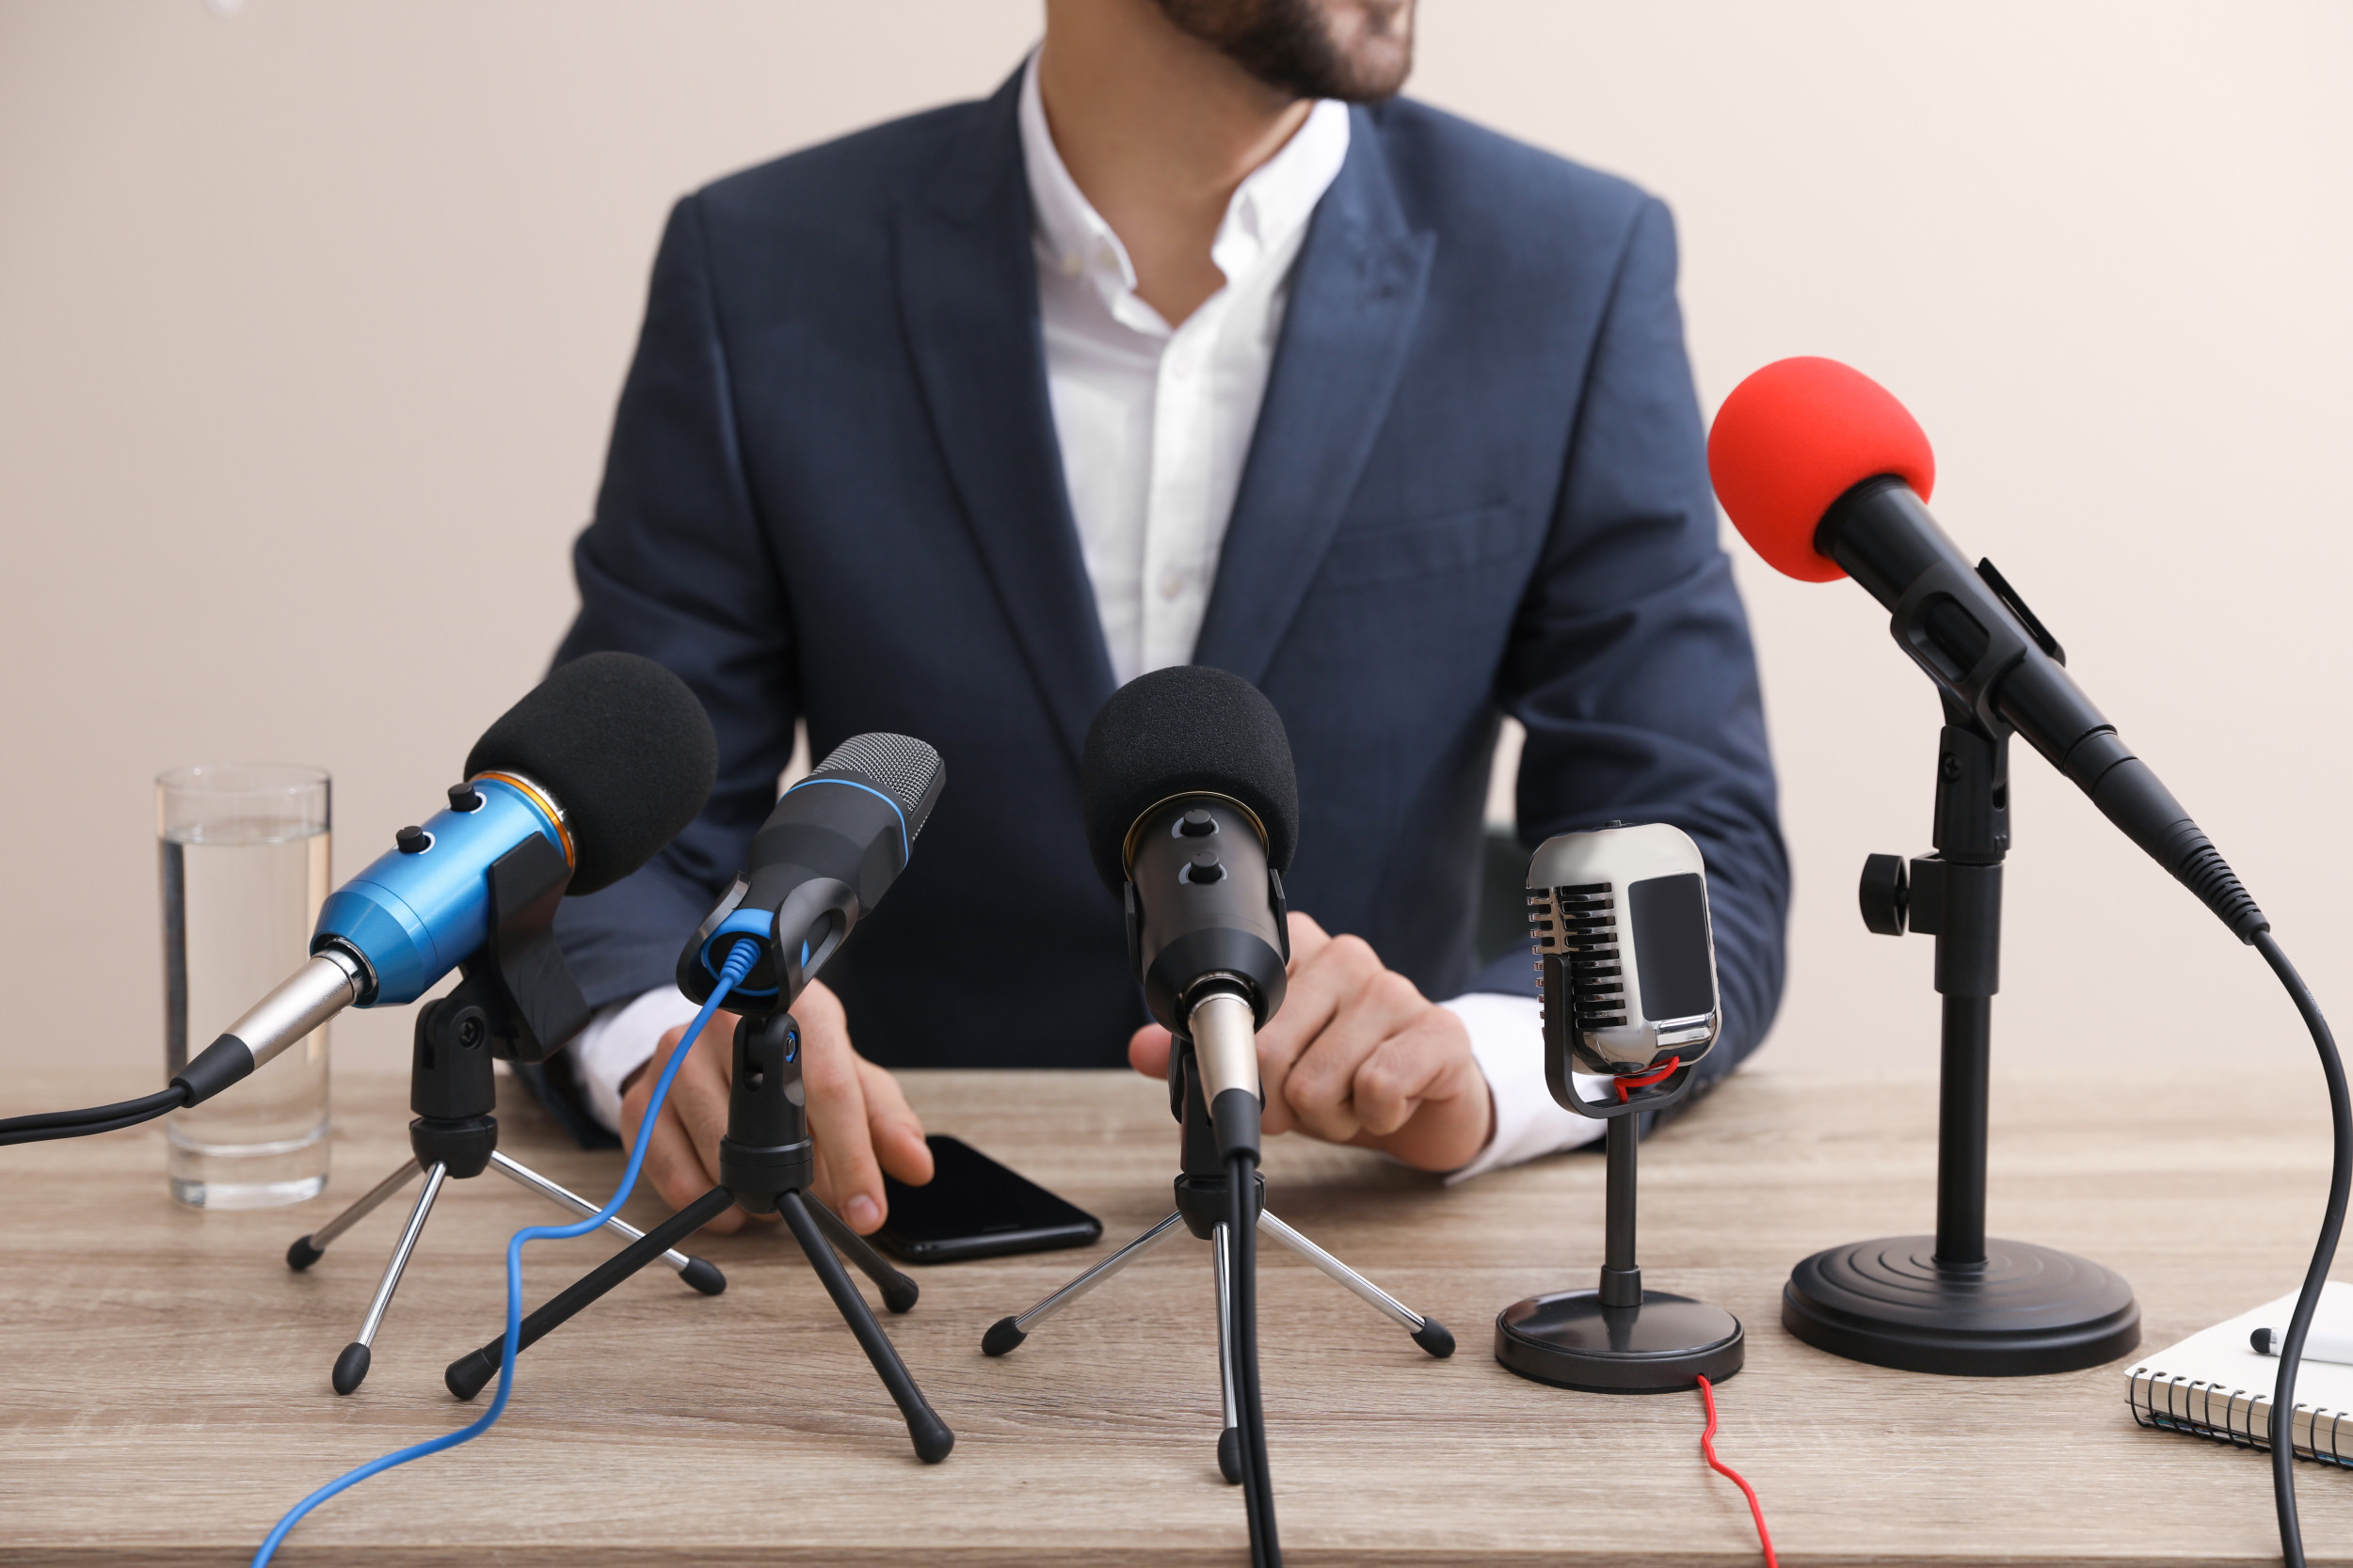
[[[155,776],[165,1079],[311,957],[327,900],[327,771],[280,764]],[[327,1027],[165,1121],[172,1197],[271,1208],[327,1187]]]

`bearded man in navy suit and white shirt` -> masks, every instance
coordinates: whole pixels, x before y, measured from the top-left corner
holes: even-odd
[[[795,1009],[826,1201],[866,1232],[878,1164],[929,1175],[889,1067],[1160,1072],[1078,750],[1188,661],[1257,682],[1299,764],[1268,1131],[1478,1171],[1598,1126],[1544,1091],[1527,959],[1473,961],[1504,712],[1527,844],[1626,818],[1704,849],[1729,1070],[1779,999],[1788,867],[1666,209],[1395,99],[1412,0],[1045,12],[995,96],[671,216],[560,658],[678,670],[720,776],[565,907],[579,1093],[635,1131],[795,719],[819,757],[887,729],[948,764]],[[656,1126],[671,1201],[715,1180],[725,1041]]]

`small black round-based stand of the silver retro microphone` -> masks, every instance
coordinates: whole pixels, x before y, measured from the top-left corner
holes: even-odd
[[[1600,1286],[1504,1307],[1494,1319],[1494,1359],[1506,1368],[1588,1394],[1671,1394],[1699,1387],[1699,1378],[1722,1382],[1741,1371],[1748,1354],[1741,1321],[1689,1295],[1645,1291],[1633,1260],[1640,1114],[1666,1110],[1689,1091],[1692,1067],[1675,1067],[1666,1081],[1624,1091],[1614,1103],[1577,1095],[1569,1110],[1605,1121]]]

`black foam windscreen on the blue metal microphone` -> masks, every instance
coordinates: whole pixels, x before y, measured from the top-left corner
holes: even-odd
[[[499,715],[466,773],[522,773],[565,813],[565,896],[595,893],[678,837],[711,799],[720,745],[701,701],[652,658],[586,654]]]

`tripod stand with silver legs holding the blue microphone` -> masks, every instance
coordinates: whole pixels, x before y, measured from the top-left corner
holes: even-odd
[[[553,936],[555,903],[569,879],[562,851],[539,835],[492,863],[489,938],[459,964],[464,978],[447,997],[416,1009],[409,1056],[409,1110],[416,1119],[409,1121],[409,1159],[360,1194],[351,1208],[308,1237],[296,1237],[287,1248],[287,1267],[308,1269],[327,1255],[336,1237],[424,1173],[426,1187],[416,1194],[407,1225],[400,1227],[393,1258],[384,1265],[384,1279],[376,1281],[367,1316],[360,1321],[360,1335],[334,1359],[336,1394],[351,1394],[367,1378],[376,1331],[447,1182],[496,1171],[572,1213],[598,1211],[598,1204],[501,1154],[499,1119],[492,1114],[499,1098],[492,1058],[546,1060],[588,1023],[588,1004]],[[624,1220],[605,1220],[605,1229],[631,1241],[642,1237]],[[701,1258],[664,1251],[664,1262],[704,1295],[727,1288],[727,1276]]]

